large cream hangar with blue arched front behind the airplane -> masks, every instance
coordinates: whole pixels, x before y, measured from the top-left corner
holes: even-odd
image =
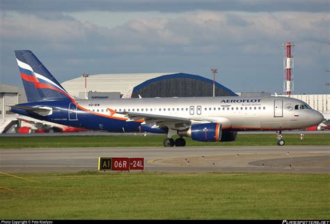
[[[84,98],[95,91],[99,97],[107,97],[107,92],[125,94],[129,87],[134,87],[132,98],[154,97],[194,97],[213,96],[213,81],[200,75],[186,73],[133,73],[133,74],[101,74],[77,77],[62,83],[72,96]],[[97,94],[96,94],[97,95]],[[237,96],[230,89],[215,82],[214,96]],[[108,97],[107,97],[108,98]]]

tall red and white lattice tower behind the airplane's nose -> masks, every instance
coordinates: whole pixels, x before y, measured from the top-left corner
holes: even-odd
[[[284,48],[284,57],[283,57],[283,64],[284,64],[284,86],[283,91],[286,95],[290,96],[291,93],[294,91],[293,85],[293,42],[287,42],[283,44]]]

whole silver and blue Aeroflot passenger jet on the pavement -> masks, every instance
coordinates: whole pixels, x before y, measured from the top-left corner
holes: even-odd
[[[116,133],[164,133],[165,147],[184,147],[183,137],[234,141],[238,130],[281,130],[320,124],[322,114],[287,97],[74,99],[29,50],[15,51],[28,103],[11,111],[56,124]],[[173,140],[173,135],[178,135]]]

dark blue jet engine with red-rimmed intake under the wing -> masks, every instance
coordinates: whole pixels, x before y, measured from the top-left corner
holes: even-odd
[[[178,135],[200,142],[219,142],[221,134],[222,126],[219,123],[193,124],[186,130],[178,131]]]

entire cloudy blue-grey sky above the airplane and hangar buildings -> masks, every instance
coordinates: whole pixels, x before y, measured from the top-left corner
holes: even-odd
[[[22,87],[14,50],[64,82],[83,73],[189,73],[235,92],[330,94],[328,0],[0,0],[0,83]],[[82,77],[81,77],[82,78]],[[109,89],[111,91],[111,89]]]

